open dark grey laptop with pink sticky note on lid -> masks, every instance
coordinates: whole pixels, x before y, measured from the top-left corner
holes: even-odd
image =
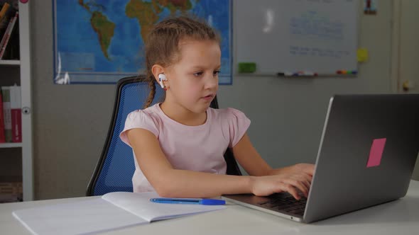
[[[223,195],[297,222],[315,222],[404,197],[419,151],[419,94],[330,98],[306,199]]]

